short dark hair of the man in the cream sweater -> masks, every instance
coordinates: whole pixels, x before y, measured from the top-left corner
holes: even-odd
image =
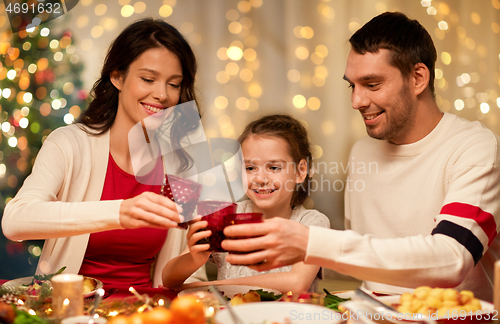
[[[408,77],[415,64],[424,63],[430,72],[429,88],[434,96],[436,47],[431,35],[416,20],[401,12],[384,12],[349,39],[352,49],[359,54],[377,53],[379,49],[391,51],[391,64]]]

